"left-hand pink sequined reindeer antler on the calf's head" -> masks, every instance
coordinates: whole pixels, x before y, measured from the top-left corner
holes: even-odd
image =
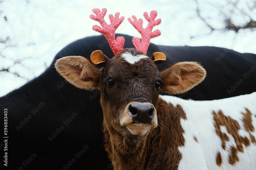
[[[95,21],[98,21],[102,26],[101,28],[98,25],[94,25],[92,29],[94,31],[97,31],[103,34],[106,37],[106,39],[109,42],[110,48],[112,49],[115,55],[123,51],[124,37],[119,36],[119,37],[116,37],[116,40],[115,40],[115,31],[119,27],[119,25],[123,22],[124,17],[119,18],[119,15],[120,15],[119,12],[115,13],[115,17],[113,17],[113,15],[109,15],[109,20],[110,20],[110,25],[109,25],[104,20],[104,16],[106,15],[106,12],[107,12],[106,8],[103,8],[102,12],[100,12],[99,8],[94,8],[92,9],[92,12],[96,14],[96,16],[90,15],[90,18]]]

